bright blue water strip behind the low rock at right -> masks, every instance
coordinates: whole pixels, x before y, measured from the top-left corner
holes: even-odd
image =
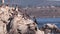
[[[60,18],[36,18],[38,27],[43,26],[46,23],[56,24],[60,28]]]

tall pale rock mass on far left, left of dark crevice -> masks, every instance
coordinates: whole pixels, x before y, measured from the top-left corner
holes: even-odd
[[[11,17],[10,8],[8,6],[0,7],[0,34],[7,34],[7,24],[10,22],[8,19]]]

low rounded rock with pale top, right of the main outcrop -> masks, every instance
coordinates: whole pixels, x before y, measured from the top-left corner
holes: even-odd
[[[50,24],[50,23],[44,24],[41,30],[43,30],[45,34],[59,34],[60,33],[59,28],[55,24]]]

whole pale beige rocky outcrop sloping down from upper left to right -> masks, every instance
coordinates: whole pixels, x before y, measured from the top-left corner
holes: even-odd
[[[0,7],[0,34],[45,34],[49,29],[60,31],[53,24],[46,24],[39,30],[36,21],[18,7]]]

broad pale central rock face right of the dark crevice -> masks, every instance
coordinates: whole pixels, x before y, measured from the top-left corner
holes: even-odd
[[[11,21],[11,26],[13,29],[19,29],[21,30],[21,32],[26,32],[28,26],[27,24],[30,24],[30,23],[34,23],[32,20],[30,19],[24,19],[23,15],[17,15],[17,16],[14,16],[14,19]]]

